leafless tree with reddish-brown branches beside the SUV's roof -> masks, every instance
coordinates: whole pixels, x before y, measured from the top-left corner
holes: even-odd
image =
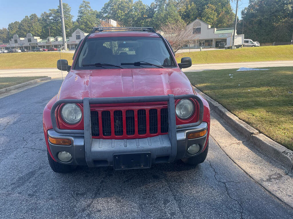
[[[181,20],[163,23],[160,25],[160,28],[164,32],[164,37],[169,41],[175,53],[189,41],[186,23]]]

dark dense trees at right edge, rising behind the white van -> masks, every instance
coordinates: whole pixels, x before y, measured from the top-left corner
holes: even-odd
[[[250,0],[241,14],[244,34],[248,39],[259,42],[290,42],[293,32],[293,0],[263,1]],[[241,20],[238,32],[242,33]]]

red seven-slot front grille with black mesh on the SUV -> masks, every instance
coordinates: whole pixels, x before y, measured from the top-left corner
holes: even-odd
[[[91,111],[91,126],[94,137],[98,137],[100,133],[105,137],[165,134],[168,133],[168,109],[160,107],[158,109]],[[112,130],[114,130],[113,133]]]

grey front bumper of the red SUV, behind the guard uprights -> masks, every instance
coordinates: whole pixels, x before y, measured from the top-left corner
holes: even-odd
[[[187,135],[192,132],[204,131],[208,128],[206,122],[202,122],[199,126],[182,128],[176,130],[177,151],[175,159],[192,157],[200,154],[207,140],[207,133],[195,139],[188,139]],[[48,136],[52,138],[62,138],[71,140],[69,146],[55,145],[49,140],[50,151],[55,160],[63,164],[70,165],[87,165],[86,153],[84,146],[84,135],[80,134],[60,134],[53,129],[48,130]],[[190,155],[187,152],[188,147],[193,144],[199,144],[200,150],[197,154]],[[57,154],[60,151],[69,152],[72,159],[69,162],[62,162],[58,159]],[[172,153],[172,143],[168,136],[158,135],[150,138],[137,139],[95,139],[91,140],[90,157],[93,166],[113,166],[113,156],[115,154],[132,154],[132,153],[150,153],[151,164],[168,162]]]

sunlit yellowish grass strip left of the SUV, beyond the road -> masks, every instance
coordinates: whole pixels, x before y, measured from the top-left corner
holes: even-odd
[[[61,53],[61,59],[72,64],[73,53]],[[31,52],[0,54],[0,69],[13,68],[56,68],[59,52]]]

